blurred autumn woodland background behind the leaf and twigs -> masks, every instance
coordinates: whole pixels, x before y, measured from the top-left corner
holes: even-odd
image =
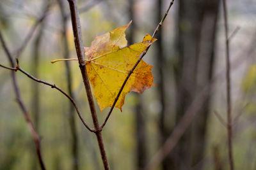
[[[78,3],[84,46],[90,46],[95,36],[130,20],[126,34],[129,44],[140,42],[146,33],[154,32],[170,1]],[[156,86],[140,95],[129,93],[123,111],[115,109],[102,131],[111,169],[146,167],[191,108],[195,118],[189,117],[186,132],[156,169],[229,169],[221,4],[220,0],[174,2],[157,34],[158,40],[144,57],[154,66]],[[234,165],[236,169],[256,169],[256,2],[227,1],[227,6]],[[54,59],[76,58],[68,2],[0,1],[0,21],[3,37],[13,53],[37,23],[20,55],[20,67],[71,94],[92,127],[77,62],[51,64]],[[0,63],[10,66],[2,46],[0,54]],[[16,76],[41,139],[47,169],[103,169],[95,135],[84,128],[70,101],[20,72]],[[103,122],[109,108],[100,113],[97,106],[97,111],[99,122]],[[31,132],[15,100],[11,71],[2,67],[0,169],[40,169]]]

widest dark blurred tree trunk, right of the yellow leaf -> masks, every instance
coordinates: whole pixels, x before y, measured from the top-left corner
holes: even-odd
[[[179,1],[177,20],[178,66],[177,83],[177,117],[184,115],[202,87],[209,83],[214,64],[214,46],[216,37],[216,20],[219,0]],[[177,146],[179,169],[188,169],[196,165],[202,169],[204,157],[205,132],[209,114],[209,101],[205,100],[195,122],[180,139]]]

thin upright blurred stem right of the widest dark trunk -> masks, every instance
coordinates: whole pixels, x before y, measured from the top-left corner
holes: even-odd
[[[231,94],[230,94],[230,55],[229,55],[229,40],[228,40],[228,18],[227,18],[227,4],[223,0],[223,13],[225,24],[225,40],[226,40],[226,80],[227,80],[227,131],[228,131],[228,160],[230,169],[234,169],[233,155],[232,155],[232,118],[231,118]]]

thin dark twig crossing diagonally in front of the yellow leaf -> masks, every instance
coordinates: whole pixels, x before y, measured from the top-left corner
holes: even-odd
[[[162,18],[161,22],[159,22],[159,24],[157,25],[157,27],[156,27],[156,29],[155,29],[153,35],[152,35],[153,38],[156,37],[157,32],[159,31],[160,27],[163,25],[163,22],[164,22],[166,16],[168,15],[168,12],[169,12],[170,8],[172,7],[173,2],[174,2],[174,0],[172,0],[172,1],[170,2],[170,5],[169,5],[169,7],[168,7],[166,13],[164,14],[164,17]],[[151,46],[151,45],[149,45],[148,48],[150,48],[150,46]],[[104,120],[103,124],[100,126],[101,129],[102,129],[102,128],[106,125],[106,123],[108,122],[108,119],[109,119],[109,117],[110,117],[110,115],[111,115],[111,113],[112,113],[112,111],[113,111],[113,109],[114,109],[114,107],[115,107],[116,102],[118,101],[118,98],[119,98],[119,96],[120,96],[122,90],[124,89],[125,84],[127,83],[128,79],[129,79],[129,77],[131,76],[131,74],[133,73],[134,69],[135,69],[135,68],[138,66],[138,64],[140,63],[141,59],[142,59],[142,58],[144,57],[144,55],[146,55],[146,53],[148,52],[148,48],[147,48],[144,52],[141,53],[140,59],[137,60],[136,64],[134,64],[134,66],[132,67],[132,69],[129,71],[129,74],[128,74],[127,77],[125,78],[125,81],[124,81],[124,83],[123,83],[121,89],[119,90],[119,92],[118,92],[118,94],[117,94],[117,96],[116,96],[116,98],[115,98],[115,101],[114,101],[114,103],[112,104],[112,106],[111,106],[111,108],[110,108],[110,110],[109,110],[109,113],[108,113],[106,119]]]

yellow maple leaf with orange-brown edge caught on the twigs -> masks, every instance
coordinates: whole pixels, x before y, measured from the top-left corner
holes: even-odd
[[[88,57],[86,69],[93,87],[93,95],[100,106],[100,111],[112,106],[127,74],[139,59],[140,54],[156,41],[147,34],[141,43],[127,46],[125,30],[131,22],[123,27],[97,36],[90,47],[84,47]],[[143,60],[134,69],[115,105],[122,111],[125,95],[128,92],[141,93],[151,87],[154,76]]]

